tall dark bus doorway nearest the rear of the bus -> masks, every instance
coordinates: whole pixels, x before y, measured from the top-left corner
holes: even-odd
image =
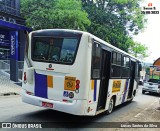
[[[111,52],[102,50],[101,59],[101,83],[99,89],[99,98],[97,111],[105,109],[107,101],[108,84],[110,77]]]

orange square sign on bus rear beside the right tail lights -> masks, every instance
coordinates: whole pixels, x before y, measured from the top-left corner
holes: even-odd
[[[74,91],[75,84],[76,84],[76,77],[66,76],[64,82],[64,90]]]

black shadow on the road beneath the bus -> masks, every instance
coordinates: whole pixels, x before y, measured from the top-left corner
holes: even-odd
[[[116,112],[130,105],[136,106],[137,102],[133,101],[132,104],[124,103],[120,106],[117,106],[110,115],[116,116]],[[107,115],[106,112],[104,112],[97,116],[76,116],[76,115],[71,115],[71,114],[67,114],[59,111],[54,111],[51,109],[44,109],[44,110],[39,110],[39,111],[18,115],[16,116],[16,119],[18,122],[34,122],[34,123],[47,122],[47,124],[52,124],[53,127],[85,128],[85,127],[102,127],[103,124],[105,125],[108,124],[104,122],[103,119],[104,118],[107,119],[107,117],[110,115]]]

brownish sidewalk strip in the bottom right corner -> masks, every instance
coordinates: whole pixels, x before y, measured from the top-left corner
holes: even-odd
[[[141,112],[136,114],[130,120],[126,122],[126,125],[142,125],[143,127],[135,127],[131,126],[131,128],[116,128],[111,129],[110,131],[159,131],[160,128],[160,104],[159,98],[153,101],[148,105],[145,109],[142,109]],[[148,127],[144,127],[144,125],[149,125]],[[156,127],[157,126],[157,127]]]

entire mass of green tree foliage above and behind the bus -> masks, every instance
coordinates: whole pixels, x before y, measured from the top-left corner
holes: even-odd
[[[147,47],[132,36],[144,29],[142,0],[21,0],[21,14],[29,27],[88,31],[108,43],[146,57]]]

